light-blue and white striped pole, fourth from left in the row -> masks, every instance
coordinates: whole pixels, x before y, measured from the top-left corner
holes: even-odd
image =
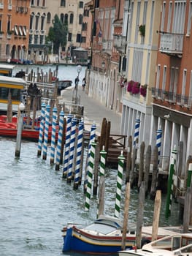
[[[64,111],[61,110],[59,114],[59,121],[58,121],[58,144],[57,144],[57,151],[56,151],[55,170],[59,170],[59,165],[61,162],[61,146],[62,146],[63,134],[64,134]]]

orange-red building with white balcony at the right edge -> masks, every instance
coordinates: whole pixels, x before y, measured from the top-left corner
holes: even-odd
[[[163,169],[168,168],[166,159],[174,146],[182,152],[178,148],[182,145],[180,172],[183,175],[185,162],[192,154],[192,2],[162,1],[161,10],[150,141],[155,145],[155,133],[161,126]]]

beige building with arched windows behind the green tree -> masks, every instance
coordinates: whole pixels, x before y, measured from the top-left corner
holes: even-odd
[[[69,61],[72,59],[72,51],[79,48],[81,42],[88,42],[84,36],[82,38],[82,20],[85,4],[88,0],[31,0],[31,18],[29,27],[29,50],[31,59],[35,63],[47,61],[58,62],[60,60]],[[55,15],[63,23],[68,23],[68,35],[66,46],[61,48],[60,53],[53,55],[53,42],[47,42],[45,37],[53,26]],[[50,59],[47,59],[48,48],[52,48]]]

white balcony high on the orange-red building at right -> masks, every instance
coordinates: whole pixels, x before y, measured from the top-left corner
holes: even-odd
[[[183,34],[172,34],[161,32],[161,53],[181,56],[183,54]]]

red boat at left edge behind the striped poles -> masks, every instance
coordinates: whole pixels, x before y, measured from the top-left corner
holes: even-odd
[[[7,122],[7,116],[0,116],[0,136],[16,138],[17,137],[17,117],[12,118],[12,122]],[[51,140],[52,126],[49,127],[48,140]],[[58,136],[58,130],[56,131],[56,139]],[[26,140],[39,140],[39,122],[35,129],[30,129],[30,126],[23,126],[22,138]]]

